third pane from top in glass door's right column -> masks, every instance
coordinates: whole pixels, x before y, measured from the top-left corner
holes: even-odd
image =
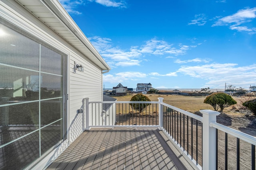
[[[41,126],[48,125],[63,117],[62,99],[41,101]]]

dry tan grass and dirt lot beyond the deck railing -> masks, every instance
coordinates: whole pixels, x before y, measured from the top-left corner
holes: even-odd
[[[204,104],[205,97],[194,97],[194,96],[180,96],[180,95],[147,95],[151,101],[158,101],[158,97],[164,98],[164,103],[167,103],[169,105],[172,105],[174,107],[178,107],[180,109],[183,109],[185,111],[189,111],[190,113],[194,113],[196,115],[201,115],[199,110],[201,109],[211,109],[213,110],[212,106],[208,104]],[[124,97],[115,97],[118,99],[118,101],[130,101],[132,96],[124,96]],[[230,106],[228,108],[225,108],[224,111],[217,117],[217,122],[234,128],[236,130],[239,130],[241,132],[244,132],[246,134],[250,134],[252,136],[256,137],[256,116],[254,116],[250,111],[245,110],[241,106],[241,102],[244,101],[244,98],[241,97],[233,97],[238,103],[237,105]],[[255,98],[255,97],[254,97]],[[157,112],[157,111],[156,111]],[[130,117],[121,115],[121,119],[129,119]],[[153,115],[154,121],[157,119],[158,122],[158,116]],[[120,117],[119,117],[120,118]],[[147,117],[148,118],[148,117]],[[144,119],[138,119],[138,116],[133,118],[137,119],[136,122],[142,123],[142,121],[145,121]],[[148,119],[150,120],[150,119]],[[186,122],[186,120],[185,120]],[[183,121],[182,121],[183,123]],[[180,126],[180,125],[179,125]],[[196,128],[194,127],[193,123],[193,136],[196,134]],[[189,128],[191,128],[191,125],[189,125]],[[201,125],[198,126],[198,138],[201,138]],[[177,130],[177,129],[176,129]],[[182,127],[183,130],[183,127]],[[177,132],[177,131],[176,131]],[[185,134],[185,139],[186,139]],[[183,135],[179,136],[180,139],[183,140]],[[189,150],[191,150],[191,137],[189,137]],[[228,169],[236,169],[236,141],[237,139],[231,135],[228,135]],[[196,150],[196,138],[193,137],[193,155],[195,156],[195,150]],[[185,148],[187,143],[185,142]],[[198,140],[198,146],[202,146],[202,140]],[[186,148],[187,149],[187,148]],[[199,148],[200,149],[200,148]],[[190,151],[191,154],[191,151]],[[221,132],[219,130],[218,132],[218,169],[222,170],[225,169],[225,134],[224,132]],[[240,169],[246,170],[251,169],[251,145],[247,142],[244,142],[240,140]],[[198,162],[201,164],[202,162],[202,154],[198,153]]]

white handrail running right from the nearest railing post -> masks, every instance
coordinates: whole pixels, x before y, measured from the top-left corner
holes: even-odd
[[[256,137],[254,136],[251,136],[249,134],[246,134],[244,132],[240,132],[238,130],[235,130],[233,128],[230,128],[230,127],[226,127],[224,125],[221,125],[219,123],[216,123],[216,122],[211,122],[210,123],[210,126],[211,127],[214,127],[214,128],[217,128],[223,132],[226,132],[228,134],[231,134],[232,136],[235,136],[236,138],[240,138],[250,144],[253,144],[253,145],[256,145]]]

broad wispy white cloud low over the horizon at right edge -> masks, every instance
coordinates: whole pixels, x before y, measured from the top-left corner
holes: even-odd
[[[235,63],[211,63],[208,65],[182,66],[177,72],[191,77],[206,79],[206,86],[223,88],[225,83],[236,87],[248,87],[255,83],[256,64],[238,67]]]

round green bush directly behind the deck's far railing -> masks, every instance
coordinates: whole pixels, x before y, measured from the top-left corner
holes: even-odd
[[[142,95],[141,93],[138,93],[137,95],[134,95],[130,101],[151,101],[147,96]],[[130,106],[134,110],[138,110],[139,113],[144,111],[148,105],[151,105],[151,103],[130,103]]]

